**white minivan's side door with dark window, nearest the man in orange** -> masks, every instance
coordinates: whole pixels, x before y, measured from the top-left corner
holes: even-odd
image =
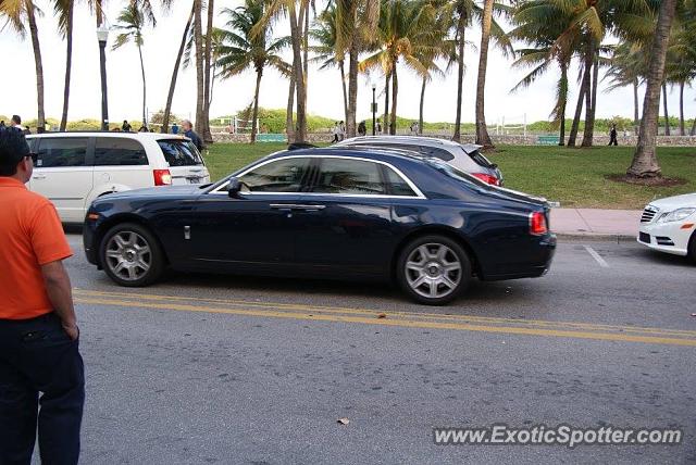
[[[82,223],[92,189],[94,140],[89,137],[41,137],[30,188],[55,205],[64,223]]]

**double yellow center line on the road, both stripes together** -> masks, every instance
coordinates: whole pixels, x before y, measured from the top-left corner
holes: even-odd
[[[696,347],[696,331],[681,329],[498,318],[447,313],[380,312],[371,309],[157,296],[140,292],[107,292],[86,289],[75,289],[74,297],[76,303],[84,305]]]

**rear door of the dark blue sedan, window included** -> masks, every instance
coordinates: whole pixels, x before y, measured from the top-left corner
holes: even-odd
[[[318,273],[388,273],[398,228],[391,206],[399,192],[390,190],[385,169],[391,168],[370,160],[321,159],[311,192],[300,196],[302,209],[295,215],[298,264]]]

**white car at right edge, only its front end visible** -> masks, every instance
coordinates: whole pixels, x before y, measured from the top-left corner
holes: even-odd
[[[696,192],[650,202],[641,216],[638,242],[696,261]]]

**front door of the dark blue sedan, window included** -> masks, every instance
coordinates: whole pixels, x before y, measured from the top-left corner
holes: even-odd
[[[189,229],[194,261],[233,271],[290,265],[293,209],[310,167],[309,158],[272,160],[238,176],[243,191],[236,198],[227,196],[226,186],[200,196]]]

